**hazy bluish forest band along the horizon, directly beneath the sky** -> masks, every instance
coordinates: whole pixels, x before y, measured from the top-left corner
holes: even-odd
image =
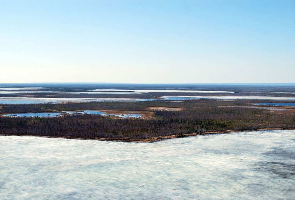
[[[214,90],[214,91],[233,91],[233,92],[295,92],[294,83],[269,83],[269,84],[129,84],[129,83],[0,83],[0,86],[19,86],[19,87],[43,87],[43,91],[73,91],[88,89],[124,89],[148,90]],[[45,89],[48,88],[48,89]],[[29,89],[29,88],[28,88]],[[1,90],[1,88],[0,88]],[[41,91],[39,90],[39,91]]]

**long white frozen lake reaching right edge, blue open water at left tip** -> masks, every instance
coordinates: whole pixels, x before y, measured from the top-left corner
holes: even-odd
[[[167,100],[193,100],[193,99],[267,99],[267,100],[295,100],[295,97],[282,96],[161,96]]]

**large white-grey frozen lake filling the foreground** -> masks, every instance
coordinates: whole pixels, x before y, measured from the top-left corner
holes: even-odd
[[[294,199],[295,130],[154,143],[0,136],[0,199]]]

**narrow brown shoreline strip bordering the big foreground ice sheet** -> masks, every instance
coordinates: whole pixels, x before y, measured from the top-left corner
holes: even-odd
[[[225,134],[225,133],[233,133],[233,132],[246,132],[246,131],[264,131],[264,130],[295,130],[292,128],[263,128],[263,129],[255,129],[255,130],[226,130],[226,131],[212,131],[212,132],[204,132],[204,133],[188,133],[183,134],[182,137],[191,137],[197,135],[212,135],[212,134]],[[147,139],[124,139],[124,138],[83,138],[83,137],[58,137],[58,136],[43,136],[43,135],[20,135],[20,134],[0,134],[0,136],[31,136],[31,137],[48,137],[48,138],[61,138],[61,139],[71,139],[71,140],[100,140],[100,141],[113,141],[113,142],[159,142],[162,140],[179,138],[179,135],[168,135],[168,136],[158,136],[151,137]]]

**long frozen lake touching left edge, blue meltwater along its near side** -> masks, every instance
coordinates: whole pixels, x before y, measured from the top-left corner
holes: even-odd
[[[38,98],[38,97],[0,97],[0,104],[40,104],[87,101],[150,101],[153,99],[134,98]]]

